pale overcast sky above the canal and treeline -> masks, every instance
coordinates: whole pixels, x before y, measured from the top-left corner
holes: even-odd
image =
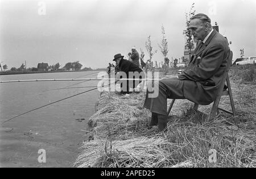
[[[25,60],[27,68],[80,61],[83,67],[106,68],[116,53],[127,55],[133,46],[146,52],[149,35],[158,49],[162,24],[168,58],[179,59],[185,13],[193,2],[196,13],[209,15],[232,41],[234,58],[242,48],[245,56],[256,56],[255,0],[0,0],[0,63],[10,69]],[[163,56],[158,52],[153,60]]]

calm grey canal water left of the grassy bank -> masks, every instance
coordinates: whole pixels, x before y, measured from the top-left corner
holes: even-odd
[[[1,80],[49,78],[96,78],[97,72],[61,72],[0,76]],[[81,93],[97,81],[16,82],[0,84],[0,122],[26,111]],[[80,84],[78,84],[80,83]],[[69,89],[59,89],[69,88]],[[70,89],[71,88],[71,89]],[[59,89],[59,90],[55,90]],[[31,113],[0,127],[0,166],[70,167],[76,160],[86,121],[94,113],[99,92],[90,91]],[[85,119],[85,120],[78,120]],[[12,130],[11,132],[7,132]],[[46,150],[46,163],[38,162],[39,149]]]

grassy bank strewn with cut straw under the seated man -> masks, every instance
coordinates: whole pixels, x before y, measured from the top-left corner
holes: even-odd
[[[75,166],[256,167],[255,74],[255,65],[230,69],[235,118],[221,113],[205,122],[204,115],[192,110],[192,102],[177,100],[167,133],[158,133],[157,127],[148,130],[151,113],[143,108],[144,93],[102,93]],[[230,110],[229,98],[222,97],[220,106]],[[199,110],[208,114],[211,107]]]

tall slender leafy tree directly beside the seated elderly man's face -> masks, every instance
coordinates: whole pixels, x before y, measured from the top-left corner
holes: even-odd
[[[185,17],[186,17],[186,30],[183,31],[183,34],[185,35],[185,39],[186,39],[186,43],[185,45],[188,47],[189,49],[189,61],[191,59],[191,51],[192,51],[192,48],[194,46],[194,43],[193,43],[193,38],[192,38],[192,35],[191,35],[191,30],[189,28],[189,24],[191,22],[191,18],[195,15],[196,13],[196,10],[194,10],[194,6],[195,3],[192,4],[191,6],[191,9],[189,11],[189,13],[186,13],[185,14]]]

